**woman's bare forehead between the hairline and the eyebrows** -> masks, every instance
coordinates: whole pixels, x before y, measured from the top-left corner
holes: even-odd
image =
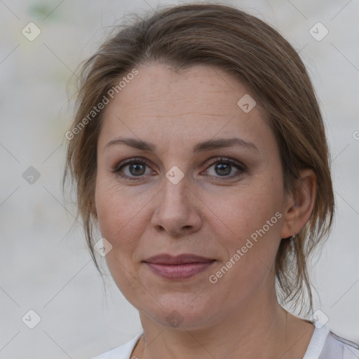
[[[250,111],[241,107],[243,102]],[[270,132],[248,87],[233,74],[208,65],[180,72],[168,65],[140,67],[107,105],[103,121],[100,141],[126,133],[177,141],[182,147],[184,138],[207,140],[218,133],[230,137],[236,132],[254,140]]]

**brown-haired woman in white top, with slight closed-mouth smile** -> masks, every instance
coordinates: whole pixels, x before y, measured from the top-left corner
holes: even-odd
[[[88,245],[143,327],[97,358],[358,358],[281,305],[312,313],[334,196],[316,95],[276,30],[165,8],[90,57],[78,101],[67,170]]]

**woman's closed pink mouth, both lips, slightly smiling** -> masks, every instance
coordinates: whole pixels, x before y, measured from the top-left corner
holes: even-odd
[[[205,271],[216,260],[197,255],[156,255],[143,262],[157,276],[180,280],[190,278]]]

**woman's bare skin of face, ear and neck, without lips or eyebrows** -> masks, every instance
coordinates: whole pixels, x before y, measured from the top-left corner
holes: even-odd
[[[276,139],[258,99],[249,113],[238,107],[245,94],[250,90],[243,83],[216,67],[178,73],[147,64],[105,109],[97,147],[97,220],[112,245],[106,256],[111,276],[140,311],[144,337],[133,352],[138,358],[302,358],[309,344],[313,325],[278,305],[274,259],[280,239],[308,221],[316,177],[304,170],[297,195],[285,194]],[[119,137],[156,149],[109,144]],[[232,137],[256,149],[233,145],[194,154],[199,142]],[[136,170],[143,169],[140,176],[130,165],[121,167],[131,158]],[[242,165],[227,165],[229,175],[221,176],[216,164],[228,159]],[[165,177],[172,166],[184,174],[177,184]],[[209,276],[276,213],[276,223],[210,283]],[[215,262],[191,278],[169,280],[142,262],[163,253]],[[168,320],[173,317],[176,325]]]

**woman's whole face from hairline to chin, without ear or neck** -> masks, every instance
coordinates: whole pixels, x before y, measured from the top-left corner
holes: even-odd
[[[107,264],[163,325],[205,327],[274,293],[283,173],[249,95],[216,67],[147,65],[105,109],[95,202]]]

